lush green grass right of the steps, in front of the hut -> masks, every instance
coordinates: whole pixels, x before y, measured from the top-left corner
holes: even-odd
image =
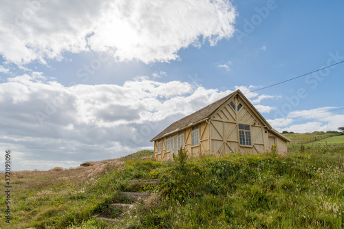
[[[307,151],[307,150],[306,150]],[[128,219],[132,228],[341,228],[343,149],[189,160],[162,165],[160,202]]]

